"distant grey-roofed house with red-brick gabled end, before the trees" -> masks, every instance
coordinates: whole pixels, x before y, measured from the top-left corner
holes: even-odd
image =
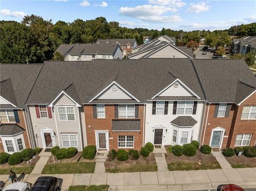
[[[137,41],[134,38],[124,39],[99,39],[97,44],[119,44],[122,49],[123,56],[130,55],[133,52],[133,48],[137,47]]]

